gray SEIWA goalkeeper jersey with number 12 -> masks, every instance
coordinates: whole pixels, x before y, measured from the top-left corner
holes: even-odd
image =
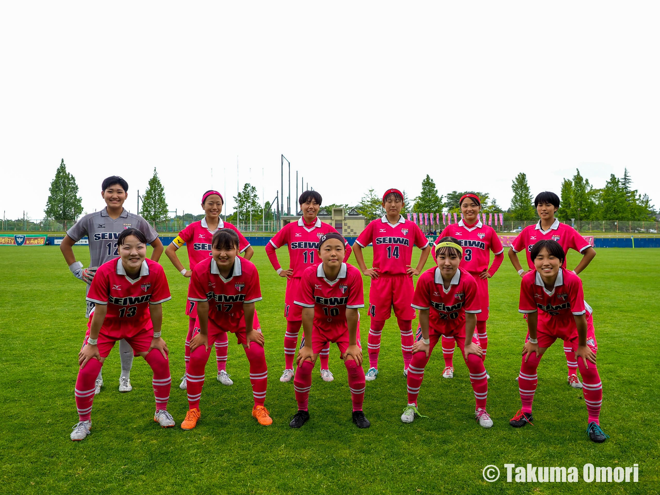
[[[149,225],[147,220],[139,215],[128,213],[126,209],[121,212],[116,219],[108,215],[108,209],[104,208],[101,211],[89,213],[83,216],[76,224],[67,230],[67,236],[74,241],[81,240],[84,236],[89,239],[89,254],[90,268],[98,268],[103,263],[119,257],[117,251],[117,238],[119,234],[127,228],[137,228],[147,238],[147,242],[151,244],[157,237],[156,232],[152,226]],[[87,292],[89,292],[89,286]],[[90,311],[94,308],[94,303],[87,303],[86,316],[89,316]]]

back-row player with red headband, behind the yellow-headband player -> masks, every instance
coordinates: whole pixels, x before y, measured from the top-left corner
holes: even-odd
[[[488,333],[486,333],[489,306],[488,279],[495,275],[500,265],[502,265],[504,248],[502,248],[502,242],[495,230],[488,225],[484,225],[479,220],[481,209],[479,196],[473,193],[467,193],[461,196],[459,206],[463,218],[457,224],[447,225],[436,242],[434,242],[434,246],[437,246],[440,239],[446,236],[454,236],[458,239],[459,244],[463,246],[463,257],[461,258],[460,267],[474,277],[479,287],[481,312],[477,314],[477,336],[479,337],[479,345],[484,351],[482,358],[485,361],[486,349],[488,348]],[[493,251],[495,257],[489,269],[490,251]],[[435,251],[433,252],[433,257],[434,259],[436,258]],[[454,348],[455,342],[453,339],[442,337],[442,354],[445,358],[445,370],[442,373],[444,378],[453,378]],[[486,378],[490,378],[488,372],[486,372]]]

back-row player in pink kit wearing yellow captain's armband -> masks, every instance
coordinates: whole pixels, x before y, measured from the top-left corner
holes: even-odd
[[[238,235],[239,240],[239,253],[243,253],[245,259],[250,259],[254,254],[254,249],[250,246],[248,240],[238,232],[238,229],[229,222],[223,222],[220,218],[222,213],[222,205],[224,199],[218,191],[213,189],[206,191],[202,196],[202,208],[206,214],[202,220],[192,222],[184,228],[179,235],[172,241],[170,246],[165,250],[165,254],[172,261],[172,265],[181,272],[183,277],[190,278],[193,275],[193,268],[197,263],[211,257],[211,239],[213,234],[220,228],[230,228]],[[179,258],[176,251],[185,244],[188,251],[188,261],[190,269],[186,270]],[[195,301],[188,301],[185,306],[185,314],[189,316],[188,320],[188,334],[185,337],[185,371],[188,371],[190,362],[190,339],[193,333],[193,325],[195,325],[195,318],[197,318],[197,303]],[[259,319],[255,313],[254,327],[259,329]],[[218,364],[218,381],[223,385],[233,385],[234,381],[227,373],[227,348],[229,342],[227,334],[222,333],[218,335],[218,340],[215,343],[216,362]],[[185,374],[181,380],[179,388],[185,390],[186,380]]]

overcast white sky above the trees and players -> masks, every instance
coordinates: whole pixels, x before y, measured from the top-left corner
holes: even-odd
[[[627,167],[659,206],[659,5],[3,2],[0,209],[42,218],[64,158],[88,213],[114,174],[135,211],[154,166],[172,210],[211,187],[232,210],[236,156],[271,200],[281,153],[292,205],[296,170],[325,203],[430,174],[506,208],[518,172]]]

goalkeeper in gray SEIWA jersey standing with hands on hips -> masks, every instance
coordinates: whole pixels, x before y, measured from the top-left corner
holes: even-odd
[[[149,225],[147,220],[139,215],[128,213],[123,208],[123,203],[128,196],[128,183],[121,177],[112,176],[103,181],[101,188],[101,197],[106,201],[106,207],[78,220],[73,227],[67,230],[67,235],[59,246],[67,265],[69,265],[69,270],[77,279],[86,282],[85,294],[89,292],[89,286],[92,283],[96,269],[103,263],[119,257],[117,238],[123,230],[137,228],[145,234],[147,242],[154,248],[151,254],[153,261],[158,261],[163,252],[163,245],[158,239],[158,232]],[[88,268],[84,268],[80,261],[76,261],[72,249],[72,246],[84,236],[89,239],[90,263]],[[89,317],[90,313],[94,311],[94,304],[87,303],[86,305],[85,316]],[[125,340],[119,341],[119,356],[121,357],[119,391],[130,392],[133,389],[131,386],[133,349]],[[94,393],[99,393],[102,386],[103,377],[99,372]]]

